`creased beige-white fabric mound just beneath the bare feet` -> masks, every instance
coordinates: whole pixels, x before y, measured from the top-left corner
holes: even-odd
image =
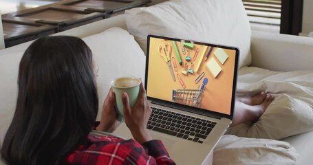
[[[230,127],[227,134],[280,140],[313,130],[313,105],[286,94],[275,98],[255,124]]]

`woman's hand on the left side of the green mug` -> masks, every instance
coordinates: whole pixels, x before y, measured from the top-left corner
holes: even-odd
[[[98,131],[105,131],[112,133],[116,130],[120,122],[116,120],[116,109],[114,107],[116,102],[116,96],[112,89],[109,90],[107,98],[102,107],[101,121],[100,124],[96,127]]]

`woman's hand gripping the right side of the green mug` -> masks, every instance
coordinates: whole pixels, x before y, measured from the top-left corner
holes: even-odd
[[[131,131],[133,138],[141,144],[152,140],[150,133],[147,131],[147,123],[152,110],[142,83],[140,84],[138,100],[133,109],[129,106],[129,98],[125,92],[122,93],[122,102],[124,105],[125,124]]]

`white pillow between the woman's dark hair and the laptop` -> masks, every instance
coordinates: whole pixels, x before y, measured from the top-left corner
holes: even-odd
[[[107,97],[111,80],[120,76],[135,76],[144,81],[146,56],[133,36],[122,28],[110,28],[83,40],[90,47],[99,68],[97,120],[100,121],[103,100]]]

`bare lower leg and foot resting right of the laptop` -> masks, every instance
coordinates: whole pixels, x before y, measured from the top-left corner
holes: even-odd
[[[264,113],[268,105],[274,100],[270,94],[266,94],[261,104],[249,105],[244,102],[237,101],[231,126],[236,126],[244,122],[257,122],[260,116]]]

